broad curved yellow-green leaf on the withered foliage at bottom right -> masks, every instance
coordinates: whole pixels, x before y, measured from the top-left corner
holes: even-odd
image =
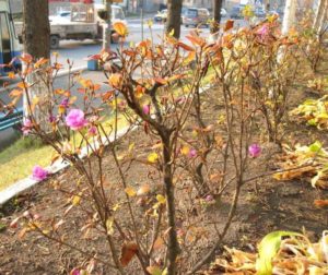
[[[273,231],[268,234],[259,244],[259,258],[256,261],[256,271],[258,275],[272,274],[272,259],[280,249],[281,238],[286,236],[302,236],[292,231]]]

